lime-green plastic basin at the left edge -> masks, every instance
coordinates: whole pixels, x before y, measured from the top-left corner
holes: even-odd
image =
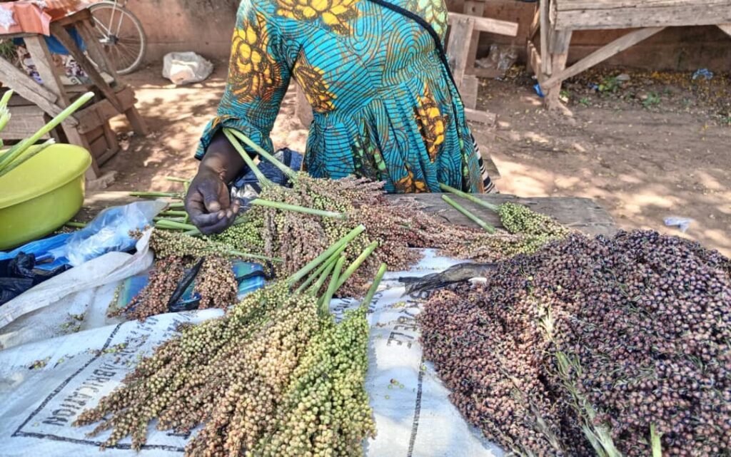
[[[73,218],[90,165],[83,147],[50,145],[0,177],[0,250],[50,234]]]

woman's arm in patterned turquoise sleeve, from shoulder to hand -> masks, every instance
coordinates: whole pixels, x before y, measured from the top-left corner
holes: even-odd
[[[276,23],[257,11],[251,0],[243,0],[232,39],[226,90],[216,118],[200,139],[196,157],[201,163],[185,199],[192,223],[204,234],[227,229],[239,210],[238,203],[230,201],[228,183],[243,170],[244,161],[222,128],[234,128],[265,150],[273,150],[269,133],[291,73],[286,53]]]

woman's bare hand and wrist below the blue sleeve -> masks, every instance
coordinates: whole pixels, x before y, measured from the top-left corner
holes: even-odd
[[[242,167],[243,158],[219,131],[208,146],[185,196],[185,209],[202,234],[221,233],[238,215],[238,201],[231,201],[227,183]]]

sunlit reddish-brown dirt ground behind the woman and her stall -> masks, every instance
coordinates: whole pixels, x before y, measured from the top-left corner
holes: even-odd
[[[176,88],[151,66],[128,77],[148,122],[148,137],[121,137],[102,171],[118,172],[110,190],[174,188],[166,176],[190,177],[202,128],[216,110],[225,65],[200,84]],[[622,229],[656,229],[664,218],[692,219],[687,237],[731,256],[731,82],[727,76],[605,70],[565,85],[567,113],[547,112],[524,72],[486,80],[480,108],[498,126],[474,126],[501,178],[502,193],[595,199]],[[307,131],[289,93],[273,128],[275,147],[303,150]],[[116,120],[118,132],[129,131]]]

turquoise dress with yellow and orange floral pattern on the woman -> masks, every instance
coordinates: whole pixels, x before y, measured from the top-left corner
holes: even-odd
[[[444,40],[443,0],[390,0]],[[205,129],[221,127],[272,150],[271,128],[290,79],[314,111],[303,169],[314,177],[382,180],[390,193],[484,191],[461,99],[433,38],[368,0],[243,0],[227,87]]]

